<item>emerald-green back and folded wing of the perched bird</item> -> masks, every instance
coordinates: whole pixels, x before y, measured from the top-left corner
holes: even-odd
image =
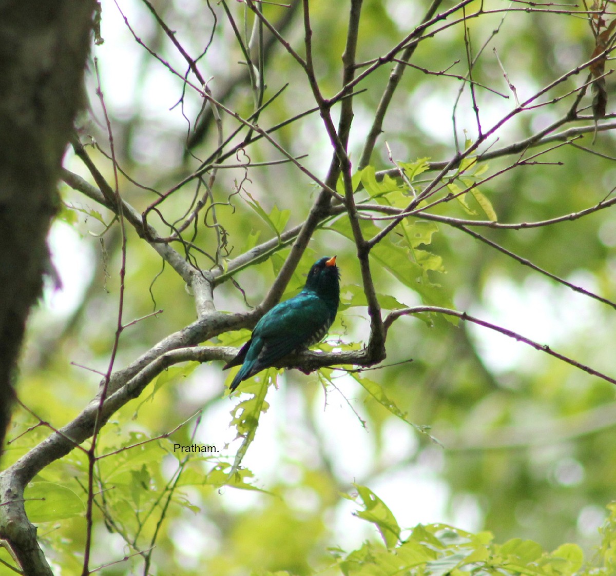
[[[274,306],[254,328],[253,337],[262,340],[263,345],[251,374],[272,366],[330,324],[328,308],[316,294],[302,292]]]

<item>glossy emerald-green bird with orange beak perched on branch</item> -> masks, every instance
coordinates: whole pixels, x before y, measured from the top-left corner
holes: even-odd
[[[293,298],[275,305],[254,327],[250,340],[223,370],[241,364],[233,391],[242,380],[273,366],[294,350],[317,343],[330,328],[340,302],[340,272],[336,257],[312,265],[306,286]]]

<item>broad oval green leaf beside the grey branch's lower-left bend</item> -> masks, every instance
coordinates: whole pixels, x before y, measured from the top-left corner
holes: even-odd
[[[23,497],[26,515],[34,524],[81,516],[86,510],[73,490],[54,482],[31,482]]]

